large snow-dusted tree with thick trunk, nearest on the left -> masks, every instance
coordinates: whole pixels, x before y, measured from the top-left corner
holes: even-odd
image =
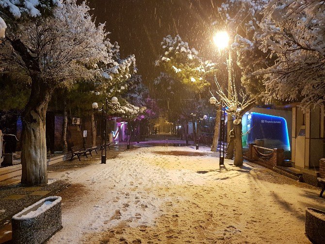
[[[99,70],[86,66],[112,60],[104,24],[96,26],[89,10],[85,2],[66,0],[50,16],[6,29],[1,70],[24,72],[31,79],[31,95],[22,113],[23,184],[47,183],[45,114],[54,89],[94,79]]]

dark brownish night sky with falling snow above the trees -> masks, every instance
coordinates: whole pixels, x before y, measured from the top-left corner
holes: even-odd
[[[121,57],[135,54],[138,74],[148,86],[159,71],[154,61],[162,52],[166,35],[179,34],[205,59],[216,50],[212,43],[221,0],[91,0],[97,22],[106,22],[112,43],[120,45]]]

